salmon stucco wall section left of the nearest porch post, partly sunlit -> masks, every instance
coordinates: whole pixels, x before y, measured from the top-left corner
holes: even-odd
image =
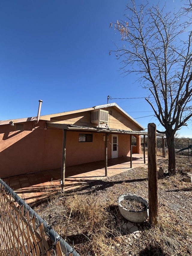
[[[16,125],[0,126],[1,177],[61,167],[62,130],[44,130],[44,121],[38,126],[25,122],[24,131],[16,131]]]

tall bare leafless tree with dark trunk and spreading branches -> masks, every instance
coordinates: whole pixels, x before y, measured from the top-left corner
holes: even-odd
[[[192,116],[191,20],[184,8],[164,14],[158,6],[126,6],[125,21],[111,23],[120,32],[124,46],[115,52],[125,75],[138,75],[149,89],[146,101],[165,131],[169,152],[169,173],[176,172],[174,135]],[[191,6],[187,7],[187,13]]]

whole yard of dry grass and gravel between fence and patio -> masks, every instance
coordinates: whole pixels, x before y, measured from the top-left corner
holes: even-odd
[[[161,158],[159,166],[167,166]],[[148,199],[146,168],[135,168],[98,180],[36,206],[49,224],[73,244],[80,255],[191,255],[192,254],[192,185],[182,181],[181,172],[192,165],[178,159],[176,176],[158,180],[159,224],[140,223],[140,237],[121,233],[120,222],[127,222],[119,212],[117,197],[123,193]],[[176,207],[176,209],[174,209]],[[178,207],[178,209],[177,209]]]

